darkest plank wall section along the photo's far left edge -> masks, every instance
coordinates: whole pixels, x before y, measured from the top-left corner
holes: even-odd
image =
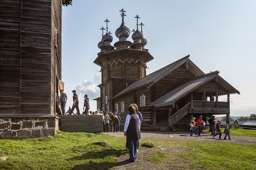
[[[2,1],[0,11],[0,114],[19,114],[21,1]]]

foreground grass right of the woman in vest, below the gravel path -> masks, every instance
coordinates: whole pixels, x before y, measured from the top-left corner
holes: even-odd
[[[147,157],[148,161],[158,163],[160,167],[166,163],[174,169],[255,169],[256,167],[256,145],[166,138],[143,140],[146,141],[165,148],[161,151],[157,147],[153,148]]]

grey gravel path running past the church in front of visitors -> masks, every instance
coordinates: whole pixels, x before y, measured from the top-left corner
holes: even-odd
[[[116,137],[124,137],[124,133],[118,132],[118,133],[104,133],[111,136]],[[193,135],[190,136],[190,132],[156,132],[156,131],[141,131],[141,140],[147,139],[147,138],[169,138],[169,139],[183,139],[183,140],[210,140],[210,141],[223,141],[223,142],[233,142],[233,143],[240,143],[244,145],[249,144],[256,144],[256,137],[249,137],[249,136],[238,136],[238,135],[230,135],[230,138],[232,140],[221,140],[218,139],[218,136],[216,136],[216,139],[212,137],[212,135],[208,133],[201,133],[202,137]],[[222,134],[222,138],[225,137],[225,134]]]

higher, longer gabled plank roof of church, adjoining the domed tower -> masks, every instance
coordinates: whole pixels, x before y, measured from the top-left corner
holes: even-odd
[[[133,84],[131,84],[130,86],[128,86],[127,88],[122,90],[120,93],[115,95],[112,99],[114,99],[118,96],[121,96],[125,93],[129,93],[130,91],[135,90],[135,89],[140,88],[140,87],[150,88],[156,82],[158,82],[163,77],[165,77],[167,74],[169,74],[170,72],[172,72],[173,70],[175,70],[176,68],[181,66],[183,63],[188,61],[189,60],[188,58],[189,58],[189,55],[186,56],[186,57],[183,57],[183,58],[169,64],[168,66],[165,66],[165,67],[163,67],[163,68],[161,68],[161,69],[159,69],[159,70],[157,70],[157,71],[155,71],[151,74],[148,74],[145,77],[142,77],[140,80],[134,82]],[[192,62],[189,62],[189,63],[191,64]],[[197,66],[194,66],[194,67],[196,67],[197,70],[199,70],[201,74],[204,74],[204,72],[202,72]]]

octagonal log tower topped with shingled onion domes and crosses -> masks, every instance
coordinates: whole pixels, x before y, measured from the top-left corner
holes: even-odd
[[[101,83],[99,85],[101,89],[101,97],[97,98],[97,108],[100,110],[110,110],[114,108],[113,103],[109,103],[108,100],[114,97],[116,94],[121,92],[130,84],[138,81],[140,78],[146,76],[146,63],[153,60],[154,58],[145,49],[147,40],[144,38],[141,31],[138,30],[138,15],[137,19],[137,30],[133,30],[132,40],[133,43],[128,41],[131,31],[124,25],[125,11],[120,10],[122,23],[120,27],[115,31],[115,36],[119,38],[119,41],[111,46],[113,37],[108,32],[108,26],[106,29],[103,27],[102,39],[98,43],[100,53],[94,60],[94,63],[101,67]],[[105,21],[107,24],[108,19]],[[103,35],[103,30],[106,30],[106,34]]]

